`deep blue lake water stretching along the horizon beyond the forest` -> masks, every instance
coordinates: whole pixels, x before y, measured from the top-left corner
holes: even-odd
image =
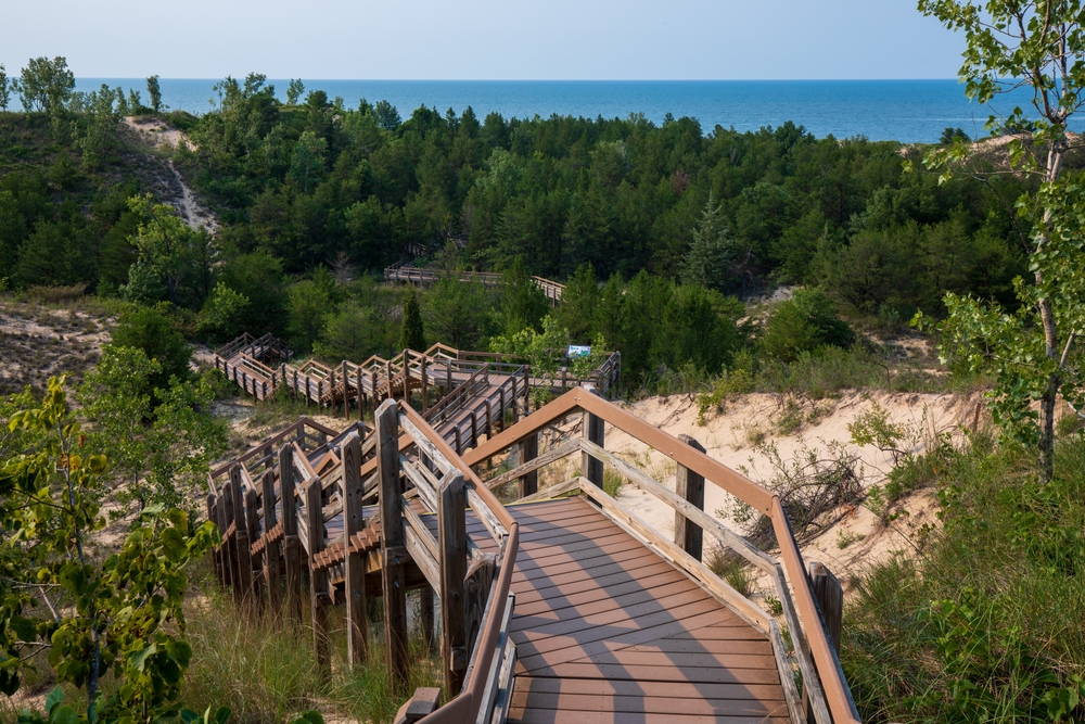
[[[78,90],[107,82],[126,90],[145,84],[131,78],[79,78]],[[163,102],[171,109],[206,113],[218,104],[214,79],[163,78]],[[289,80],[268,80],[284,99]],[[360,99],[387,100],[407,118],[420,105],[441,113],[462,113],[472,106],[480,119],[496,111],[506,118],[551,114],[595,118],[642,113],[660,124],[667,113],[690,116],[709,132],[717,124],[738,130],[803,125],[818,137],[866,136],[871,140],[930,142],[946,126],[984,136],[991,111],[965,98],[965,88],[949,80],[304,80],[306,90],[342,97],[348,107]],[[998,104],[1001,111],[1024,105],[1026,93]],[[1073,126],[1085,128],[1085,120]]]

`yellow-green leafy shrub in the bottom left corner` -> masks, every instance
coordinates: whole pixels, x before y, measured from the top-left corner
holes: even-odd
[[[86,689],[90,722],[176,714],[192,656],[179,637],[184,568],[217,543],[217,529],[195,526],[176,508],[148,508],[118,552],[92,562],[86,546],[104,524],[107,462],[82,450],[64,379],[50,380],[40,406],[14,412],[8,428],[34,446],[0,462],[0,512],[13,531],[3,542],[8,570],[0,584],[3,691],[18,688],[27,651],[44,649],[58,681]],[[42,618],[34,618],[35,595],[48,604]],[[107,670],[116,686],[102,697]],[[60,691],[50,695],[46,721],[82,721],[61,698]]]

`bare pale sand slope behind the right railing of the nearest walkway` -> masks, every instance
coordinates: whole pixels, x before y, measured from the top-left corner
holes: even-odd
[[[892,456],[873,446],[852,444],[848,423],[879,405],[892,422],[905,425],[915,433],[916,441],[921,441],[921,430],[959,433],[962,425],[971,427],[976,403],[976,398],[962,399],[955,395],[853,393],[839,401],[826,402],[827,407],[816,423],[793,434],[778,432],[781,403],[778,396],[769,394],[744,395],[729,403],[724,411],[706,416],[703,425],[698,423],[695,399],[688,395],[649,398],[628,405],[627,409],[673,435],[693,436],[711,457],[757,482],[771,479],[774,472],[766,446],[775,445],[780,458],[791,461],[804,446],[825,453],[827,443],[838,441],[858,456],[863,485],[869,487],[884,480],[892,468]],[[922,443],[917,442],[916,447],[921,446]],[[613,429],[607,431],[607,448],[618,452],[674,490],[675,465],[662,454],[646,449],[639,442]],[[654,496],[626,484],[618,499],[665,535],[673,534],[674,511]],[[705,510],[740,528],[731,520],[732,504],[733,498],[728,493],[707,485]],[[844,579],[893,551],[908,551],[914,548],[915,532],[923,523],[934,522],[933,496],[929,491],[917,493],[903,508],[905,513],[888,528],[881,525],[870,510],[855,508],[842,522],[806,545],[804,555],[807,560],[825,562]]]

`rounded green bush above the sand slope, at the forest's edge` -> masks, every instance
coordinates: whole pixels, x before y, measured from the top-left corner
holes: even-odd
[[[776,307],[761,342],[766,355],[787,363],[819,347],[846,350],[855,343],[855,332],[837,316],[837,305],[825,292],[804,288]]]

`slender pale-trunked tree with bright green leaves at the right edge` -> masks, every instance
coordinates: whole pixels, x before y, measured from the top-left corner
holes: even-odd
[[[1030,131],[1027,143],[1014,138],[1007,148],[1014,170],[1039,183],[1017,201],[1021,240],[1031,246],[1033,283],[1014,280],[1021,305],[1017,313],[947,293],[949,316],[941,331],[944,357],[995,378],[992,414],[1004,440],[1035,446],[1042,475],[1048,480],[1055,468],[1057,399],[1061,395],[1075,409],[1083,402],[1072,353],[1085,321],[1085,201],[1080,175],[1067,173],[1065,164],[1067,127],[1085,103],[1081,8],[1076,2],[1033,7],[1006,0],[983,5],[921,0],[919,10],[965,31],[968,50],[958,75],[969,98],[986,103],[1013,88],[1032,91],[1036,117],[1018,106],[1006,118],[991,116],[987,128]],[[944,182],[961,169],[972,170],[970,153],[957,138],[950,147],[928,153],[924,162],[941,172]],[[921,313],[917,321],[922,322]]]

